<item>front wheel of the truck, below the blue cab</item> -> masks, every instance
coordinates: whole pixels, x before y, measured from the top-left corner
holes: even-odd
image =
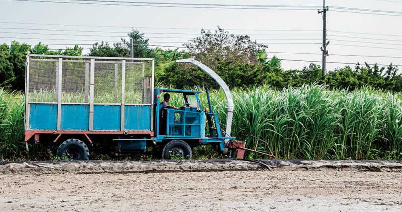
[[[165,145],[162,159],[192,159],[191,147],[183,140],[173,140]]]

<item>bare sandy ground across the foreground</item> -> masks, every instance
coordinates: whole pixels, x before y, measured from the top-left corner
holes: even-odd
[[[402,211],[402,172],[0,174],[0,211]]]

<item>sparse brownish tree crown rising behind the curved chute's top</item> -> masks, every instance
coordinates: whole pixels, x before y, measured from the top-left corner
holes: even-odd
[[[184,46],[197,60],[212,69],[216,69],[219,61],[255,64],[255,53],[267,47],[252,41],[248,35],[230,34],[219,26],[213,33],[202,29],[201,36],[190,40]]]

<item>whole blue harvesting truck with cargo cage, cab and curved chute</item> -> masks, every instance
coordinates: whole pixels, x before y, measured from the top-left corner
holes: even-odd
[[[245,143],[230,136],[233,100],[226,83],[194,59],[227,97],[226,128],[213,112],[209,92],[154,88],[153,58],[27,55],[25,142],[54,147],[60,157],[88,160],[92,148],[129,154],[156,150],[162,159],[191,159],[192,148],[216,145],[243,158]],[[164,94],[181,98],[163,108]],[[206,95],[203,108],[200,95]],[[112,148],[112,149],[111,149]]]

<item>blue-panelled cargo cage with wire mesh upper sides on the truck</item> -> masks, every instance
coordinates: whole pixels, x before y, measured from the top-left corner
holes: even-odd
[[[30,54],[25,130],[152,132],[153,92],[153,58]]]

